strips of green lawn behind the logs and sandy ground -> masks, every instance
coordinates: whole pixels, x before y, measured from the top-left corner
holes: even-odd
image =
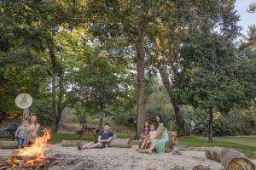
[[[133,139],[133,134],[122,134],[117,133],[118,138],[122,139]],[[75,140],[78,138],[78,135],[75,133],[53,133],[50,142],[52,144],[61,143],[61,140]],[[240,150],[242,153],[246,154],[249,157],[253,156],[253,152],[256,151],[256,136],[235,136],[235,137],[214,137],[213,143],[207,142],[207,137],[201,136],[187,136],[179,139],[179,143],[185,144],[188,147],[208,147],[208,146],[219,146],[226,148],[234,148]],[[95,137],[84,136],[82,140],[93,141]]]

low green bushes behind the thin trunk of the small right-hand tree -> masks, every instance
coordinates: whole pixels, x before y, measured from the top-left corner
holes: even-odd
[[[252,108],[253,109],[253,108]],[[213,113],[213,136],[235,136],[253,133],[253,110],[232,109],[228,114],[221,112]],[[204,110],[196,110],[185,114],[190,123],[195,122],[194,134],[208,135],[208,113]]]

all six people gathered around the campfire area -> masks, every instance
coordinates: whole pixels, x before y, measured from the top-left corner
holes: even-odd
[[[157,124],[157,129],[154,128],[154,122]],[[144,122],[143,133],[137,151],[140,153],[151,154],[154,150],[156,153],[165,152],[165,144],[169,140],[166,124],[160,115],[155,116],[154,122]],[[15,137],[18,141],[19,148],[26,147],[32,144],[38,137],[37,116],[32,116],[30,120],[25,120],[20,127],[17,128]],[[78,150],[105,148],[111,139],[114,138],[114,133],[110,131],[109,124],[104,124],[103,129],[98,133],[98,139],[95,142],[87,144],[78,143]]]

